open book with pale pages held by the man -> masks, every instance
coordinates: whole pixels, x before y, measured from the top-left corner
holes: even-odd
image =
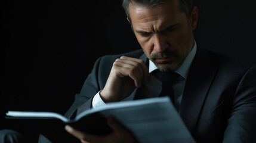
[[[95,135],[107,135],[112,132],[106,122],[109,116],[115,116],[139,142],[195,142],[168,97],[113,102],[103,107],[86,110],[72,120],[50,112],[8,111],[6,113],[7,118],[33,120],[27,124],[56,119],[51,126],[57,126],[58,122],[62,125],[62,129],[58,130],[64,130],[64,125],[67,124]],[[47,128],[45,124],[43,125],[40,128]],[[48,137],[47,131],[50,132],[50,129],[44,129],[41,133]],[[55,132],[59,131],[55,130]]]

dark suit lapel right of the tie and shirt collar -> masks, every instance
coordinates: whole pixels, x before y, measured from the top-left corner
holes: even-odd
[[[212,64],[209,52],[199,49],[190,67],[180,106],[180,116],[190,132],[195,128],[216,73],[217,67]]]

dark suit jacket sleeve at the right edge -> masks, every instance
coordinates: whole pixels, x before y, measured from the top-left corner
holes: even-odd
[[[256,66],[238,85],[223,142],[256,142]]]

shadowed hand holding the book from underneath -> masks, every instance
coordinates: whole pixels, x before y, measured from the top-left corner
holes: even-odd
[[[76,130],[69,125],[65,126],[65,129],[67,132],[75,136],[76,138],[80,139],[83,143],[100,143],[100,142],[106,142],[106,143],[132,143],[135,142],[135,139],[129,133],[126,129],[124,129],[119,123],[115,120],[114,117],[109,117],[107,119],[107,124],[111,129],[113,129],[113,132],[106,136],[96,136],[91,135],[88,133],[81,132],[79,130]]]

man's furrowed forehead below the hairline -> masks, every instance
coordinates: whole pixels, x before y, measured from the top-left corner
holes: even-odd
[[[152,26],[175,23],[180,18],[178,0],[168,0],[161,5],[145,8],[138,4],[129,4],[129,14],[133,26]]]

